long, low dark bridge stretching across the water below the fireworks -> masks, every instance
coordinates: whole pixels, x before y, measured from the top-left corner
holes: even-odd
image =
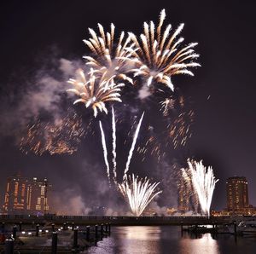
[[[113,226],[160,226],[160,225],[208,225],[225,224],[241,219],[231,216],[55,216],[55,215],[0,215],[5,224],[96,225],[110,223]]]

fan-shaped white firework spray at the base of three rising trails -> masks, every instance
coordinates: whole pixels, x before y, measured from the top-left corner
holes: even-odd
[[[119,191],[128,201],[132,213],[135,216],[141,216],[152,199],[162,192],[155,191],[159,183],[160,182],[150,183],[147,177],[139,180],[138,176],[135,177],[134,174],[132,174],[125,182],[119,184],[118,187]]]

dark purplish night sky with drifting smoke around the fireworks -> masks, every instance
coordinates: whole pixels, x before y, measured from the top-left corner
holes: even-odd
[[[55,123],[59,123],[69,107],[72,113],[82,118],[81,126],[87,126],[87,120],[93,113],[86,111],[84,106],[72,106],[73,98],[67,95],[66,88],[68,78],[73,78],[74,69],[84,65],[82,55],[89,52],[82,42],[89,37],[88,27],[96,30],[100,22],[107,29],[114,22],[118,32],[132,31],[139,35],[143,32],[143,21],[157,22],[160,10],[166,9],[166,24],[171,23],[176,29],[184,22],[182,36],[185,42],[199,43],[195,50],[200,54],[198,61],[201,67],[195,69],[195,77],[173,78],[178,99],[184,97],[186,110],[195,112],[193,118],[186,115],[193,122],[192,136],[184,147],[162,149],[161,153],[167,155],[160,160],[155,153],[153,156],[148,153],[144,159],[137,149],[143,149],[150,131],[160,133],[157,138],[160,144],[165,144],[166,139],[162,135],[165,125],[156,123],[160,122],[160,117],[155,107],[158,101],[154,96],[137,99],[134,92],[128,90],[124,102],[114,104],[120,130],[117,139],[118,170],[125,168],[132,140],[132,134],[128,136],[127,133],[133,133],[138,118],[145,111],[142,130],[131,159],[131,170],[139,176],[148,176],[154,182],[160,182],[163,193],[153,206],[177,205],[176,172],[186,165],[188,158],[203,159],[205,165],[212,165],[214,175],[220,179],[213,193],[212,208],[224,208],[226,179],[231,176],[247,177],[249,200],[256,205],[256,174],[252,156],[256,123],[253,104],[255,3],[241,6],[236,1],[199,1],[197,8],[195,3],[172,1],[171,4],[162,1],[145,5],[137,3],[137,8],[131,3],[125,9],[120,9],[119,4],[113,1],[102,3],[102,9],[97,9],[96,3],[90,3],[91,11],[84,10],[86,6],[82,1],[77,4],[2,3],[1,28],[5,36],[1,42],[4,64],[0,70],[0,113],[3,123],[0,129],[1,179],[15,170],[22,170],[22,174],[28,177],[36,175],[38,178],[52,179],[58,193],[56,202],[68,200],[67,203],[77,205],[81,213],[86,211],[88,205],[101,202],[113,207],[113,210],[117,207],[128,210],[124,200],[108,187],[97,121],[92,122],[94,130],[80,142],[75,136],[72,145],[76,147],[69,150],[72,154],[55,154],[61,151],[58,146],[41,156],[29,151],[26,154],[20,151],[20,140],[26,136],[26,125],[33,124],[38,114],[42,123],[40,128],[43,126],[42,129],[48,128],[53,133],[55,130],[47,125],[48,121],[54,119]],[[61,9],[61,13],[58,9]],[[57,87],[59,92],[55,93],[53,87]],[[50,98],[57,98],[57,102]],[[178,107],[177,112],[181,109]],[[108,111],[108,116],[102,113],[99,118],[106,130],[109,148],[110,107]],[[175,118],[178,118],[178,113]],[[153,124],[150,122],[152,119],[155,120]],[[122,124],[122,121],[126,123]],[[47,147],[54,142],[60,144],[54,136]],[[125,142],[128,144],[126,147],[123,146]],[[3,182],[0,185],[0,192],[3,193]],[[113,198],[107,200],[106,196]],[[2,200],[3,196],[0,197]]]

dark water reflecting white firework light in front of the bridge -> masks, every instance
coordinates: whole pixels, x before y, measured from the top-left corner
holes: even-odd
[[[256,253],[256,236],[235,237],[231,234],[181,234],[179,227],[112,227],[104,238],[84,253],[89,254],[236,254]]]

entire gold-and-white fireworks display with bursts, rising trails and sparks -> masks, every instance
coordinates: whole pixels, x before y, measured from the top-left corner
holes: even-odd
[[[195,62],[199,57],[194,50],[197,43],[183,45],[184,39],[179,38],[179,35],[184,24],[180,24],[172,32],[171,25],[163,28],[165,19],[166,11],[163,9],[158,25],[155,26],[153,21],[144,22],[143,34],[139,38],[132,32],[120,32],[116,35],[113,24],[110,26],[110,32],[101,24],[98,24],[99,32],[89,28],[90,37],[84,39],[89,49],[88,54],[84,55],[85,65],[67,81],[72,85],[67,92],[77,96],[73,104],[84,103],[85,108],[90,108],[93,112],[94,118],[90,118],[93,118],[91,121],[96,125],[91,129],[94,129],[94,134],[97,135],[99,128],[98,136],[101,136],[109,187],[115,187],[114,190],[122,194],[134,216],[141,216],[148,204],[162,191],[159,189],[160,182],[151,182],[148,177],[139,178],[130,174],[133,154],[139,153],[142,161],[148,157],[156,158],[157,162],[160,162],[169,154],[170,148],[173,151],[187,144],[195,118],[194,110],[188,106],[187,99],[185,100],[184,95],[179,92],[180,89],[174,89],[172,76],[194,76],[190,68],[201,66]],[[158,84],[163,85],[160,87]],[[148,101],[153,101],[155,108],[148,117],[148,122],[144,123],[144,118],[147,118],[144,117],[145,111],[152,109],[149,109],[148,101],[144,100],[147,97]],[[136,105],[130,105],[131,100],[134,100]],[[114,106],[114,110],[115,102],[123,103],[116,103],[119,107]],[[139,107],[140,105],[143,107]],[[109,131],[105,129],[105,133],[103,128],[103,125],[106,127],[106,121],[110,120],[109,107],[112,112],[111,144],[108,143]],[[124,107],[129,113],[126,114]],[[139,112],[143,113],[137,118]],[[87,131],[82,117],[68,114],[53,122],[44,123],[38,120],[29,125],[20,141],[20,150],[39,155],[45,152],[76,152],[81,138]],[[117,165],[117,123],[129,123],[132,126],[124,138],[124,147],[130,140],[131,147],[127,159],[125,157],[121,176]],[[137,144],[138,142],[140,144]],[[111,153],[108,153],[109,147],[112,148]],[[201,212],[209,215],[212,193],[218,180],[215,180],[212,168],[207,169],[202,162],[188,160],[188,164],[189,169],[182,170],[184,182],[191,189],[191,193],[195,193],[195,200],[201,205]]]

